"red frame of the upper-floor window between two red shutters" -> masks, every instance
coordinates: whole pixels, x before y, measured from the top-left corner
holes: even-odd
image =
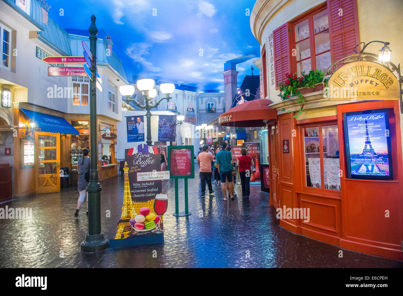
[[[319,12],[322,12],[323,10],[326,10],[327,12],[327,16],[328,16],[328,28],[324,29],[322,31],[319,31],[318,33],[315,33],[315,29],[314,29],[314,15],[318,14]],[[302,21],[304,21],[305,19],[308,20],[308,26],[309,26],[309,37],[301,39],[299,41],[295,41],[295,25],[297,25],[298,23],[301,23]],[[297,56],[293,56],[292,54],[292,50],[291,50],[291,73],[295,73],[297,72],[297,63],[302,62],[304,60],[308,60],[311,59],[311,70],[316,70],[317,69],[317,65],[316,65],[316,57],[321,55],[321,54],[325,54],[326,52],[330,52],[330,64],[331,64],[331,46],[329,42],[329,49],[325,50],[323,52],[320,53],[316,53],[316,48],[315,48],[315,36],[329,31],[329,41],[330,41],[330,19],[329,19],[329,13],[328,13],[328,7],[327,7],[327,3],[324,2],[324,4],[321,4],[320,6],[313,8],[312,10],[309,10],[308,12],[302,14],[301,16],[293,19],[290,21],[291,24],[291,49],[297,49],[297,43],[301,43],[307,39],[309,39],[309,47],[310,47],[310,56],[308,58],[303,58],[302,60],[298,60],[297,61]],[[312,58],[314,57],[314,58]],[[329,64],[329,66],[330,66]],[[305,74],[308,74],[308,72],[305,72]],[[301,73],[297,73],[298,77],[301,75]]]

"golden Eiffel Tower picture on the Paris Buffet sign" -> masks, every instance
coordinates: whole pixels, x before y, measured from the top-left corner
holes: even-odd
[[[125,191],[123,194],[122,215],[120,216],[120,220],[118,222],[115,240],[119,238],[127,238],[129,236],[129,233],[132,230],[132,227],[129,224],[129,220],[137,215],[134,209],[133,200],[131,199],[129,167],[127,166],[127,162],[125,162],[123,171],[125,174]]]

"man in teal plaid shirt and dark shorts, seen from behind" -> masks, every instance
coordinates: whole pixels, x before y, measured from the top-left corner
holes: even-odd
[[[224,198],[222,199],[223,201],[227,201],[225,184],[227,180],[229,194],[231,195],[231,199],[234,199],[234,183],[232,182],[232,154],[231,151],[225,150],[226,145],[227,144],[225,142],[221,142],[221,150],[216,154],[217,169],[220,173],[222,193],[224,193]]]

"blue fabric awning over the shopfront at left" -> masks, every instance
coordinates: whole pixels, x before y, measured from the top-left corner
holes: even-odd
[[[65,135],[79,135],[78,130],[62,117],[23,108],[21,108],[21,111],[31,118],[31,120],[36,123],[37,127],[41,128],[42,132],[59,132],[60,134]]]

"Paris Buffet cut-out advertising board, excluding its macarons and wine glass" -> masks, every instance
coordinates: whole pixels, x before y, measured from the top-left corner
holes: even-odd
[[[123,207],[115,239],[154,235],[151,230],[157,228],[155,226],[150,230],[138,231],[129,224],[130,219],[139,215],[140,209],[143,207],[148,207],[150,213],[154,213],[155,196],[162,191],[162,178],[158,174],[169,174],[169,172],[160,172],[161,156],[157,149],[153,149],[152,146],[147,146],[146,144],[143,144],[143,146],[141,149],[139,147],[129,149],[126,155],[126,164],[123,168],[125,177]],[[147,172],[149,174],[139,174]],[[153,178],[159,178],[160,180],[153,180]],[[163,228],[162,219],[160,228]]]

